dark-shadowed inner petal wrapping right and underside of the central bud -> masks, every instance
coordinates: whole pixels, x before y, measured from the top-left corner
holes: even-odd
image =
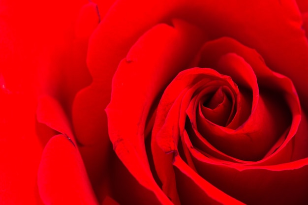
[[[223,60],[225,61],[222,62]],[[242,73],[248,74],[249,69],[252,71],[243,59],[232,54],[222,57],[219,63],[222,64],[219,65],[218,70],[220,71],[220,68],[223,68],[224,70],[220,72],[223,74],[228,74],[228,71],[232,70],[239,74],[237,76],[240,76]],[[235,82],[238,82],[233,75],[232,78]],[[250,80],[250,78],[247,78],[247,80]],[[251,79],[250,82],[253,82],[253,80]],[[256,81],[254,83],[256,86]],[[291,117],[290,112],[285,112],[288,109],[286,106],[277,106],[283,104],[275,98],[270,98],[264,92],[259,94],[253,91],[252,94],[254,98],[252,112],[242,126],[230,130],[203,124],[198,129],[213,146],[222,152],[247,161],[262,159],[284,130],[288,128],[289,118]]]

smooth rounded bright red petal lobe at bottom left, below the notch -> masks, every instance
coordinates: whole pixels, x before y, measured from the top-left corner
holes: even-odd
[[[37,177],[47,205],[98,205],[79,151],[66,135],[54,136],[45,146]]]

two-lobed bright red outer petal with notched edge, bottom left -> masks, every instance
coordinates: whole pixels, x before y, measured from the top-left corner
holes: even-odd
[[[45,146],[38,169],[39,193],[46,205],[97,205],[85,166],[61,105],[42,96],[37,110],[39,122],[62,133]]]

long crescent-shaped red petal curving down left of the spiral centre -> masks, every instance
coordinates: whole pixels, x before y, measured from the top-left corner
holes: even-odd
[[[166,196],[154,182],[146,157],[145,122],[155,97],[191,61],[202,41],[195,27],[183,21],[174,24],[175,28],[163,24],[154,27],[130,50],[114,76],[112,99],[106,109],[110,139],[119,158],[165,203]],[[133,101],[132,90],[138,90]]]

